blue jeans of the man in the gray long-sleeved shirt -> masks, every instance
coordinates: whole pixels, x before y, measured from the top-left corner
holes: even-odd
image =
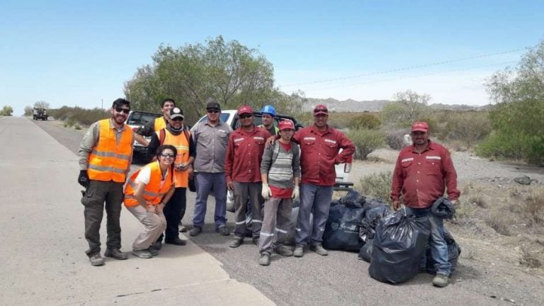
[[[225,226],[227,222],[227,180],[224,173],[196,173],[196,203],[193,225],[203,227],[206,215],[208,195],[213,189],[215,196],[215,228]]]

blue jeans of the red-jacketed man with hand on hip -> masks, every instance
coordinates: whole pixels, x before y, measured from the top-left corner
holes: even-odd
[[[323,241],[325,224],[331,207],[332,186],[300,184],[300,208],[298,209],[295,243],[303,246]],[[310,228],[310,212],[314,213],[314,225]]]

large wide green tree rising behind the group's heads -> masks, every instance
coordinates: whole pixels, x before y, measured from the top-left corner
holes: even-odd
[[[160,45],[153,63],[137,69],[125,83],[125,96],[132,108],[157,111],[163,98],[174,98],[192,122],[205,111],[205,101],[215,98],[223,108],[246,103],[261,108],[279,103],[290,111],[292,103],[302,101],[300,93],[282,96],[273,87],[273,67],[256,49],[237,40],[225,42],[222,36],[205,44],[186,44],[174,48]]]

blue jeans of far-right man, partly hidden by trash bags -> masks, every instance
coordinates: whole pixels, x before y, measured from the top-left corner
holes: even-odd
[[[416,217],[429,217],[431,223],[431,236],[429,244],[431,244],[431,256],[435,262],[436,274],[450,276],[451,263],[448,260],[448,244],[444,240],[444,223],[439,217],[431,213],[431,208],[409,208],[406,207],[406,213],[415,215]],[[426,266],[426,258],[424,256],[421,266]]]

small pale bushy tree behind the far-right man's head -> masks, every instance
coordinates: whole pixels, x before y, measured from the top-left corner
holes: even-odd
[[[393,102],[385,104],[382,108],[382,122],[397,128],[407,128],[414,121],[422,120],[429,114],[427,103],[431,96],[417,94],[407,90],[395,94]]]

